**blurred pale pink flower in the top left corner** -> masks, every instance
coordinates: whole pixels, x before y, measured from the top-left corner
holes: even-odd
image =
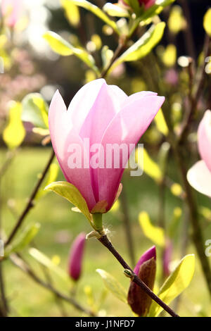
[[[6,25],[14,27],[20,18],[23,0],[1,0],[1,13],[6,18]]]

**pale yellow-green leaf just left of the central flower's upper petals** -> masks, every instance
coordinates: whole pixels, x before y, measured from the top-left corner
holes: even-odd
[[[48,111],[49,106],[39,93],[30,93],[22,101],[22,120],[32,123],[41,129],[49,128]]]

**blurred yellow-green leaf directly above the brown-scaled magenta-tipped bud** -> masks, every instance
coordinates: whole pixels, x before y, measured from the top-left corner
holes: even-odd
[[[146,211],[139,213],[139,224],[143,230],[143,234],[160,247],[165,246],[165,234],[162,227],[156,227],[151,223],[151,219]]]

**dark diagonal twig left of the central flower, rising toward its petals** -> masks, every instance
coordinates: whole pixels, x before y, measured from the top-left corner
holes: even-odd
[[[23,220],[25,220],[25,217],[27,216],[27,214],[29,213],[30,209],[33,207],[33,201],[34,201],[34,198],[39,190],[39,187],[41,186],[41,183],[43,182],[44,180],[44,177],[46,176],[46,173],[48,172],[49,168],[50,168],[50,165],[53,161],[53,158],[54,158],[54,151],[52,149],[51,151],[51,156],[49,158],[49,161],[48,163],[46,164],[46,167],[44,168],[42,174],[41,174],[41,177],[39,178],[37,184],[35,185],[34,187],[34,190],[32,191],[32,194],[30,196],[30,199],[29,201],[27,202],[27,205],[25,206],[25,209],[23,211],[23,213],[20,215],[20,218],[18,218],[18,221],[17,223],[15,224],[15,227],[13,227],[13,230],[11,232],[11,235],[9,235],[7,241],[6,241],[6,244],[5,246],[7,246],[8,244],[11,243],[11,240],[13,239],[13,237],[15,237],[16,233],[18,232],[18,229],[20,227],[20,225],[22,225],[23,223]]]

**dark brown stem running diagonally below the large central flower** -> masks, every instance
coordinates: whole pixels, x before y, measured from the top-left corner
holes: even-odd
[[[172,309],[169,306],[167,306],[167,304],[165,304],[162,300],[160,300],[160,298],[158,298],[158,296],[156,296],[155,293],[153,293],[153,291],[151,291],[151,289],[148,286],[146,286],[146,284],[144,284],[144,282],[142,282],[142,280],[139,279],[139,277],[133,272],[132,268],[130,268],[128,266],[128,264],[124,261],[124,258],[122,258],[122,256],[116,251],[113,244],[111,244],[110,240],[108,239],[108,237],[106,235],[103,235],[102,237],[98,238],[98,241],[101,242],[101,244],[103,244],[103,246],[106,246],[106,248],[111,252],[111,254],[113,254],[113,256],[115,256],[117,261],[120,262],[120,264],[122,265],[122,267],[124,269],[131,271],[132,282],[135,282],[136,285],[141,287],[141,289],[143,289],[143,291],[146,292],[146,294],[148,294],[148,296],[150,296],[151,299],[153,299],[165,311],[167,311],[167,313],[169,313],[170,316],[179,317],[176,313],[174,313],[174,311],[172,311]]]

